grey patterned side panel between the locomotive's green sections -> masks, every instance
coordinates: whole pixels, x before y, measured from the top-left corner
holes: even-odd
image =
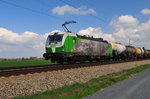
[[[77,42],[72,48],[72,52],[85,55],[105,55],[109,48],[109,43],[85,39]]]

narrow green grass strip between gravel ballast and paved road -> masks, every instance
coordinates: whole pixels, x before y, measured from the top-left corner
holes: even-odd
[[[42,93],[37,93],[29,96],[18,96],[14,99],[82,99],[96,91],[120,82],[129,78],[133,74],[150,68],[150,65],[144,65],[121,72],[108,74],[99,78],[94,78],[86,83],[75,83],[70,86],[63,86]]]

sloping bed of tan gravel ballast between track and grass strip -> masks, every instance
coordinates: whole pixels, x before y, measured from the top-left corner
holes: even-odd
[[[75,82],[83,83],[92,78],[144,64],[150,64],[150,60],[0,77],[0,98],[7,99],[18,95],[29,95]]]

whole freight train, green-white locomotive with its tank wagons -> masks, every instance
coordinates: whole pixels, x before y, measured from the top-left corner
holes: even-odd
[[[150,57],[150,50],[125,46],[119,43],[110,43],[102,38],[93,38],[71,33],[65,22],[62,26],[66,32],[55,32],[48,35],[46,53],[43,57],[52,62],[63,64],[86,61],[125,60]]]

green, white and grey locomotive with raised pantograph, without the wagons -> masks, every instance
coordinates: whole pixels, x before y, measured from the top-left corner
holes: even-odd
[[[93,61],[112,57],[112,45],[102,38],[93,38],[71,33],[65,22],[62,26],[66,32],[55,32],[46,41],[45,59],[58,63],[74,63],[76,61]]]

